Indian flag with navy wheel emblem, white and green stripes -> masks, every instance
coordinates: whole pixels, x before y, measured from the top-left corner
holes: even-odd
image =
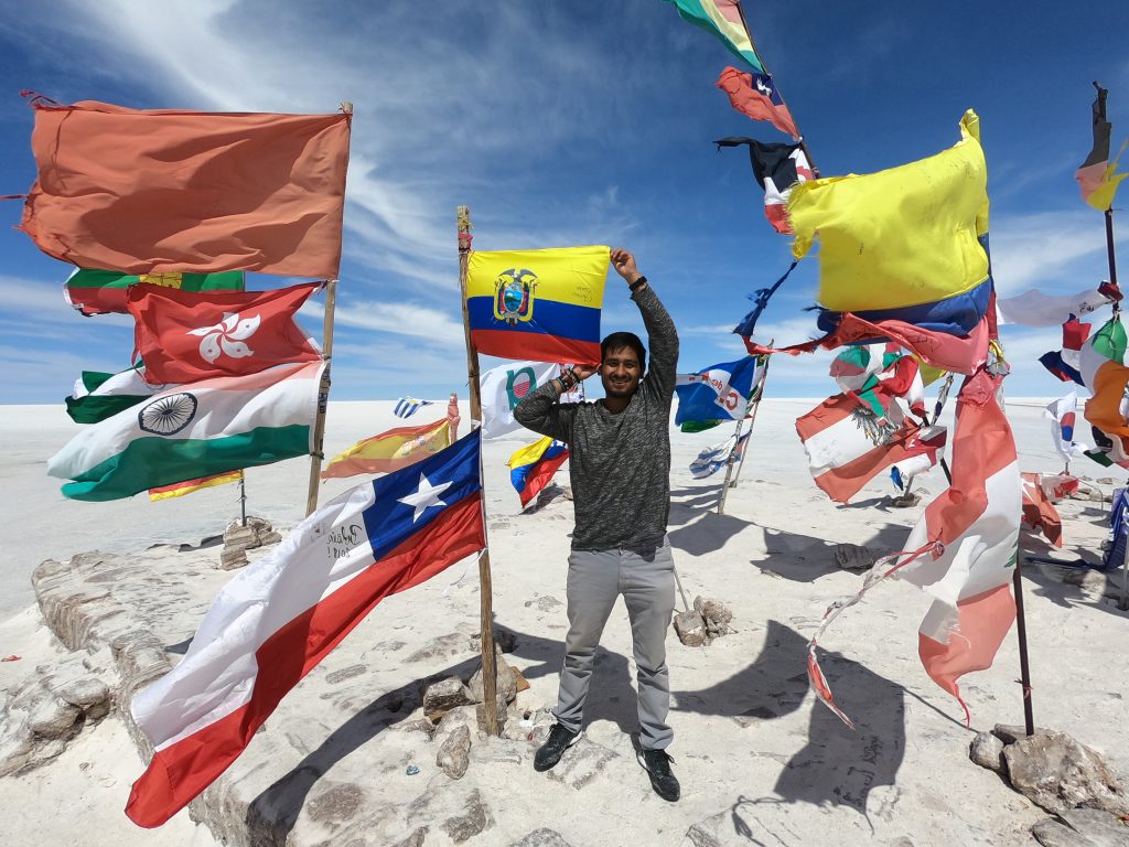
[[[47,460],[75,500],[115,500],[149,488],[255,468],[313,449],[325,363],[177,385],[85,428]]]

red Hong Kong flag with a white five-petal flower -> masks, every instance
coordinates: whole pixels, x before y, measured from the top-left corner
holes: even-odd
[[[320,287],[194,292],[130,286],[125,303],[137,320],[133,346],[145,361],[146,381],[193,383],[320,360],[317,343],[294,318]]]

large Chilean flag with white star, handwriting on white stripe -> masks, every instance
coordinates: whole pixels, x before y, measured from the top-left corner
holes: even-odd
[[[184,660],[133,698],[155,752],[125,813],[167,821],[382,600],[484,547],[478,431],[307,517],[224,586]]]

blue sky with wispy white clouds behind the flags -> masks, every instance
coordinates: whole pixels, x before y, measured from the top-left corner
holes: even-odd
[[[1102,216],[1078,198],[1091,80],[1129,136],[1129,5],[746,2],[765,64],[824,175],[933,155],[981,117],[1001,297],[1071,292],[1108,277]],[[0,194],[27,190],[34,89],[138,108],[332,112],[355,104],[334,341],[336,400],[466,395],[455,207],[481,250],[632,250],[682,338],[680,369],[743,355],[745,295],[787,269],[743,150],[787,140],[714,87],[730,54],[659,0],[420,3],[17,3],[0,0]],[[1122,192],[1121,206],[1129,206]],[[130,320],[84,318],[69,267],[10,227],[0,202],[0,402],[55,403],[79,372],[120,370]],[[1121,216],[1122,286],[1129,216]],[[813,337],[816,262],[800,263],[759,330]],[[252,287],[285,285],[257,277]],[[316,306],[303,323],[321,334]],[[604,332],[641,331],[610,274]],[[760,333],[759,333],[760,334]],[[1035,361],[1057,330],[1005,328],[1013,396],[1062,393]],[[829,355],[778,357],[767,396],[834,392]],[[483,368],[491,360],[483,361]]]

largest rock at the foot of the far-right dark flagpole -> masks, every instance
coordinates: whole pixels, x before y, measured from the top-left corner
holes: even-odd
[[[1016,791],[1052,814],[1088,806],[1129,814],[1129,794],[1095,750],[1062,732],[1023,737],[1004,748]]]

